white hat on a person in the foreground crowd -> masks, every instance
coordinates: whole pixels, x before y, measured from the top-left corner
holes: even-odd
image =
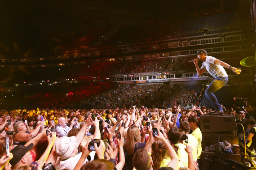
[[[68,158],[75,149],[75,136],[62,136],[56,141],[55,150],[62,160]]]

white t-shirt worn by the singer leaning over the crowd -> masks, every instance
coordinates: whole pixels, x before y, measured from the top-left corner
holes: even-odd
[[[228,74],[221,65],[214,64],[215,59],[215,57],[207,56],[205,62],[203,62],[202,64],[201,69],[205,68],[207,72],[209,72],[213,76],[213,78],[216,78],[218,76],[228,77]]]

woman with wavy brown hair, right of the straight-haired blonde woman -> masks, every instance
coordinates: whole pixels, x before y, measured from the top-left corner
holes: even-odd
[[[152,144],[152,160],[153,170],[158,170],[160,167],[166,167],[171,158],[167,154],[167,149],[162,140],[155,140]]]

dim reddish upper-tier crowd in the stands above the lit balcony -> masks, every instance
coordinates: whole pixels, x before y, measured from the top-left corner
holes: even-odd
[[[180,70],[188,69],[189,59],[182,58],[150,58],[150,59],[116,59],[110,61],[106,59],[93,60],[86,62],[73,62],[56,65],[43,65],[44,67],[13,67],[10,71],[7,67],[1,67],[3,72],[3,80],[9,80],[10,77],[15,81],[28,81],[32,84],[39,84],[38,81],[50,80],[53,81],[63,79],[75,79],[83,77],[85,80],[92,80],[93,77],[101,77],[106,80],[111,75],[130,74],[142,72],[178,72]],[[29,75],[27,74],[29,72]],[[38,77],[37,74],[41,76]],[[37,78],[35,78],[37,77]],[[33,81],[31,81],[33,80]]]

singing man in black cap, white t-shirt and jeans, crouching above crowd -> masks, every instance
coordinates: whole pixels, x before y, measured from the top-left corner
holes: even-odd
[[[209,72],[214,77],[212,83],[205,90],[206,97],[212,102],[212,106],[215,108],[215,112],[209,113],[209,115],[224,115],[222,107],[213,93],[218,89],[221,89],[221,87],[227,84],[229,80],[228,75],[223,67],[229,68],[236,74],[240,74],[241,69],[234,68],[231,65],[212,56],[207,56],[207,51],[205,50],[197,51],[196,55],[200,61],[203,61],[202,67],[199,68],[198,60],[193,60],[198,75],[201,76],[205,70],[207,70],[207,72]]]

